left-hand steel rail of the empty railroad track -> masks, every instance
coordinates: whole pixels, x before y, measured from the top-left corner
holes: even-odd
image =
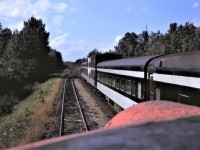
[[[62,109],[61,109],[61,117],[60,117],[60,130],[59,130],[59,136],[63,135],[63,121],[64,121],[64,103],[65,103],[65,87],[66,87],[66,80],[64,81],[63,86],[63,96],[62,96]]]

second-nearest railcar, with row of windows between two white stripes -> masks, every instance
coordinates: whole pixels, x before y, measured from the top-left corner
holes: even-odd
[[[146,67],[156,56],[104,61],[97,64],[97,89],[123,109],[144,101]],[[117,106],[115,106],[117,107]]]

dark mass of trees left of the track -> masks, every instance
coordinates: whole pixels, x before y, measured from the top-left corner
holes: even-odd
[[[0,23],[0,115],[10,113],[31,86],[62,69],[62,55],[49,46],[49,32],[41,19],[24,21],[21,31]]]

